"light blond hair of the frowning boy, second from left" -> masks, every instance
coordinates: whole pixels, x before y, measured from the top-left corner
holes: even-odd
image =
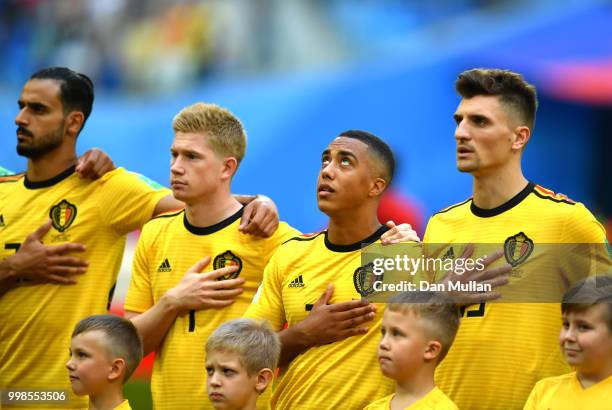
[[[249,375],[262,369],[276,369],[281,345],[278,334],[266,322],[235,319],[225,322],[206,342],[206,354],[233,352]]]

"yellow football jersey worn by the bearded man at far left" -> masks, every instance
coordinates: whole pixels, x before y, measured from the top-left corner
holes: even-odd
[[[96,181],[82,180],[74,167],[48,181],[0,180],[0,259],[50,218],[43,242],[83,243],[87,250],[75,256],[89,262],[76,285],[24,282],[0,296],[0,389],[65,390],[69,402],[58,407],[82,408],[87,398],[72,394],[66,371],[74,325],[107,312],[126,234],[169,191],[121,168]]]

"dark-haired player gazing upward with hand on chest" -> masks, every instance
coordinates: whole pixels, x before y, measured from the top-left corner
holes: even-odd
[[[272,408],[361,409],[393,391],[374,353],[381,312],[361,300],[358,287],[368,275],[362,246],[388,229],[376,211],[393,168],[391,149],[363,131],[343,132],[323,151],[317,202],[328,228],[281,245],[246,313],[277,331],[289,324],[280,333],[286,368]]]

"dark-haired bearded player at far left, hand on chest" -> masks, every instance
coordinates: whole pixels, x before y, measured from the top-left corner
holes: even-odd
[[[28,167],[0,178],[2,390],[69,390],[70,332],[107,310],[127,233],[182,206],[122,168],[95,181],[77,176],[76,139],[92,102],[91,81],[63,67],[36,73],[18,100],[17,150]],[[247,220],[266,220],[269,212],[258,209],[245,209]],[[70,395],[68,407],[85,405]]]

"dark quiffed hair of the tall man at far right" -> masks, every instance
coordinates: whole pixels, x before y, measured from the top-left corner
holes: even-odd
[[[530,129],[535,125],[538,109],[536,89],[521,74],[495,68],[474,68],[459,74],[455,89],[463,98],[499,96],[501,104],[518,113],[525,125]]]

